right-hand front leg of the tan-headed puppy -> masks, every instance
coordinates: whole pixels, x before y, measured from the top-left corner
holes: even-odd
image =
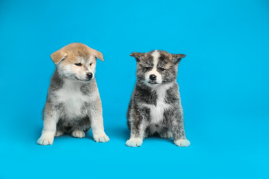
[[[88,109],[91,119],[93,139],[95,142],[106,143],[109,141],[108,136],[103,128],[103,112],[100,98],[92,103]]]

